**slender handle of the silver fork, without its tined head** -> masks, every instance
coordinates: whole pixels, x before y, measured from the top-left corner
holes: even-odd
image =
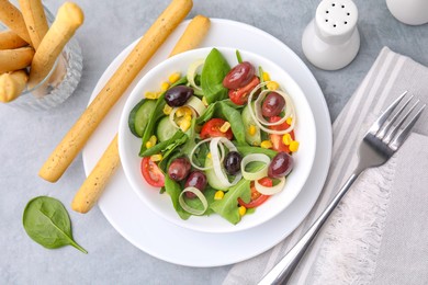
[[[357,180],[361,171],[354,171],[343,186],[339,190],[333,201],[328,204],[327,208],[322,213],[322,215],[315,220],[311,228],[305,232],[305,235],[299,240],[299,242],[281,259],[281,261],[259,282],[259,285],[264,284],[286,284],[293,271],[297,266],[305,251],[309,247],[311,242],[315,239],[319,229],[323,227],[324,223],[330,216],[333,210],[339,204],[340,200],[350,189],[352,183]]]

